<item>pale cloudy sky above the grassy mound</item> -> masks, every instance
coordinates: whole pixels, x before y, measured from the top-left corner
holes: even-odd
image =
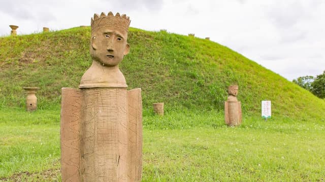
[[[110,11],[131,27],[210,37],[289,81],[325,70],[324,0],[0,0],[0,36],[9,25],[18,34],[89,26]]]

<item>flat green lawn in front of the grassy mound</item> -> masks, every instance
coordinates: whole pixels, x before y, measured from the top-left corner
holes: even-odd
[[[59,109],[0,110],[0,181],[60,181]],[[143,181],[324,181],[325,125],[144,111]]]

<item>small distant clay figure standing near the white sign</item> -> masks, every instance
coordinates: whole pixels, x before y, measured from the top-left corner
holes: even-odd
[[[238,85],[231,85],[228,88],[228,100],[224,102],[225,123],[237,126],[242,123],[241,103],[237,100]]]

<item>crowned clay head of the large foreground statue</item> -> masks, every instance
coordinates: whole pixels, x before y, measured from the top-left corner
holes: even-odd
[[[90,55],[103,66],[116,66],[129,52],[127,31],[129,17],[109,12],[91,18]]]

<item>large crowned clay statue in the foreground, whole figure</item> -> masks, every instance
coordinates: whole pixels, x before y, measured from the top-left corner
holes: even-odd
[[[141,89],[126,90],[118,68],[129,23],[112,12],[91,19],[92,65],[79,89],[62,88],[62,181],[141,181]]]

